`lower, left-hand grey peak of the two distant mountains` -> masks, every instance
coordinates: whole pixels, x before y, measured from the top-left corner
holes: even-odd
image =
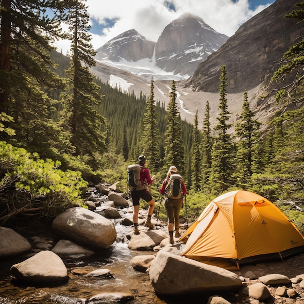
[[[138,61],[152,58],[155,42],[147,40],[134,29],[126,31],[97,49],[96,59],[118,62],[120,59]]]

